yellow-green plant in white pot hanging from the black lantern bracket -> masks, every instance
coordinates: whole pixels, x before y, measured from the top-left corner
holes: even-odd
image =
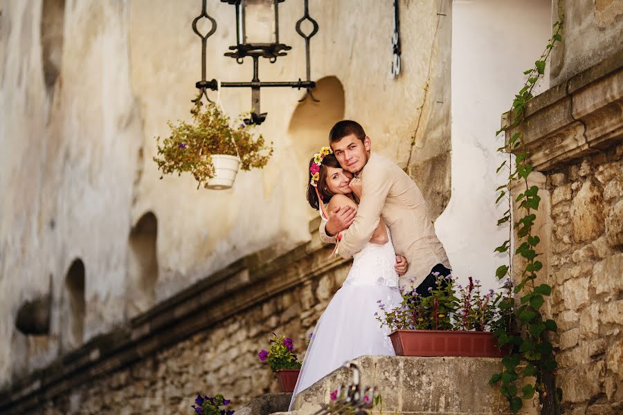
[[[179,120],[168,122],[171,134],[161,142],[157,137],[154,161],[163,174],[188,172],[195,177],[197,189],[228,189],[238,169],[261,169],[273,154],[255,125],[231,123],[230,118],[214,103],[202,109],[201,102],[192,108],[192,124]],[[242,116],[241,116],[242,118]],[[162,176],[161,176],[162,178]]]

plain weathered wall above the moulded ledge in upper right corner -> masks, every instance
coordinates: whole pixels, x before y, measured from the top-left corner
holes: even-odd
[[[554,0],[552,23],[564,16],[563,42],[552,50],[551,82],[558,85],[623,49],[619,0]]]

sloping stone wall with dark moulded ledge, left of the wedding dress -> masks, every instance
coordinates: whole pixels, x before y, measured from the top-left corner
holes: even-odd
[[[222,393],[240,408],[278,391],[258,351],[279,333],[294,338],[302,360],[350,269],[350,261],[327,259],[332,247],[314,236],[279,257],[246,257],[16,382],[0,394],[0,412],[189,414],[197,393]]]

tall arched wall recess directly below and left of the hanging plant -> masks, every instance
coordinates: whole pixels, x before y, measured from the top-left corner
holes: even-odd
[[[127,275],[128,317],[146,311],[156,301],[157,236],[158,219],[152,212],[143,214],[130,231]]]

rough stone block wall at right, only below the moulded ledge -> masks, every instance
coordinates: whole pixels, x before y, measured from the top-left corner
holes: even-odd
[[[623,145],[548,174],[558,383],[568,414],[623,411]]]

